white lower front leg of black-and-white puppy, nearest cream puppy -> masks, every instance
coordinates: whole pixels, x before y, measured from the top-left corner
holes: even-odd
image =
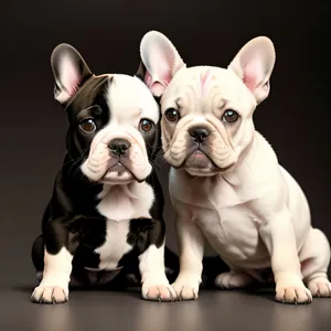
[[[166,276],[164,243],[157,247],[151,244],[139,255],[142,298],[151,301],[175,301],[177,295]]]

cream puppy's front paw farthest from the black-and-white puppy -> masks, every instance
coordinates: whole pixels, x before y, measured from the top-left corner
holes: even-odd
[[[297,275],[290,275],[276,281],[276,301],[282,303],[310,303],[312,296]]]

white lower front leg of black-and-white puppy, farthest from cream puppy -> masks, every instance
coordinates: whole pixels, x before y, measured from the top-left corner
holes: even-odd
[[[44,273],[41,284],[34,289],[34,301],[64,302],[68,299],[68,282],[73,255],[62,247],[56,255],[44,252]]]

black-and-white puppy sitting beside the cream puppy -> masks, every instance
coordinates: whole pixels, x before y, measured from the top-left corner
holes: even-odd
[[[128,256],[137,259],[145,299],[174,300],[164,271],[163,195],[150,163],[160,148],[156,99],[137,76],[94,75],[68,44],[55,47],[51,65],[70,128],[32,248],[42,275],[32,301],[65,302],[70,284],[103,284]]]

